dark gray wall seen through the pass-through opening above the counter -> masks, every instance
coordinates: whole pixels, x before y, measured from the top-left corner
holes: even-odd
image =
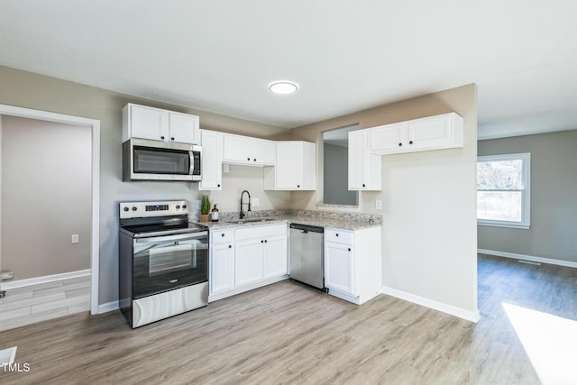
[[[324,145],[323,203],[327,205],[358,205],[356,191],[349,191],[349,149],[325,143]]]

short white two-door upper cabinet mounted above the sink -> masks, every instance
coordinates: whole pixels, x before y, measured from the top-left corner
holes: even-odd
[[[275,142],[249,136],[224,133],[223,161],[255,166],[271,166],[275,160]]]

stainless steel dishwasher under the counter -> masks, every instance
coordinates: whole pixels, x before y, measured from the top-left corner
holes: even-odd
[[[323,227],[290,224],[289,275],[292,280],[328,292],[325,288],[324,234]]]

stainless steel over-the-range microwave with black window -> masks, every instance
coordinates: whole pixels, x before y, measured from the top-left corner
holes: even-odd
[[[201,160],[197,145],[132,138],[123,143],[123,180],[198,181]]]

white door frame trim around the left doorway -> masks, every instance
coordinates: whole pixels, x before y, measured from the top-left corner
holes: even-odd
[[[29,119],[45,120],[62,124],[76,124],[92,129],[92,247],[90,270],[92,270],[90,313],[98,314],[98,275],[100,269],[100,121],[81,116],[63,115],[48,111],[0,105],[0,115],[13,115]]]

